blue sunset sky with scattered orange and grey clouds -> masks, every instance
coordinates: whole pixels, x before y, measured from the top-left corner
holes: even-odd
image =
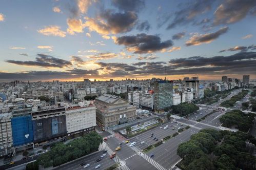
[[[0,1],[0,81],[256,79],[255,0]]]

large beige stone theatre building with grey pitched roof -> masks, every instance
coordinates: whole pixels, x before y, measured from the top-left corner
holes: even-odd
[[[136,108],[119,96],[104,94],[95,99],[96,121],[103,127],[114,126],[136,119]]]

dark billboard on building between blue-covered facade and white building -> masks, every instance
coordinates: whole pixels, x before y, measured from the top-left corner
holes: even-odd
[[[33,120],[34,142],[42,142],[67,134],[66,116]]]

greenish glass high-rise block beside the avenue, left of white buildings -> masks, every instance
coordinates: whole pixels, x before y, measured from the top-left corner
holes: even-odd
[[[171,81],[154,81],[151,83],[154,91],[154,109],[161,111],[173,104],[173,83]]]

